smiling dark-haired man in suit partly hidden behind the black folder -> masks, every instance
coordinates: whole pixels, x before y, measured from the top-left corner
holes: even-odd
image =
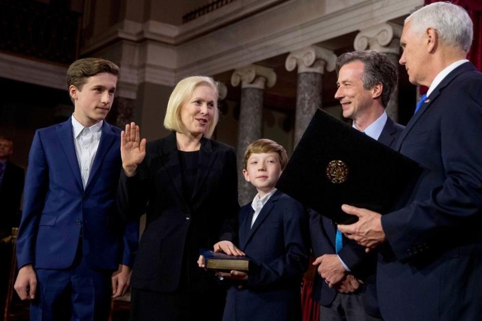
[[[397,67],[383,53],[353,51],[336,60],[335,98],[353,128],[392,146],[403,130],[385,108],[397,86]],[[380,317],[375,289],[376,256],[342,238],[325,217],[310,211],[313,254],[318,265],[312,297],[320,303],[320,320],[376,320]],[[366,285],[360,287],[359,279]]]

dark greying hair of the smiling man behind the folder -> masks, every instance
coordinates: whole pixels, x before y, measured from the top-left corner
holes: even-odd
[[[378,83],[382,84],[382,105],[386,108],[390,95],[397,87],[397,65],[384,53],[375,50],[357,50],[346,52],[336,58],[336,74],[343,65],[354,61],[361,61],[364,64],[362,81],[365,89],[371,89]]]

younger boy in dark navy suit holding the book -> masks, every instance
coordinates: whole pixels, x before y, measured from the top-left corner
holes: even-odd
[[[285,149],[269,139],[254,141],[245,152],[243,175],[258,194],[239,210],[237,241],[233,240],[237,247],[224,240],[214,251],[246,253],[249,271],[217,273],[232,281],[223,321],[301,320],[300,285],[309,258],[307,221],[303,205],[275,188],[287,162]]]

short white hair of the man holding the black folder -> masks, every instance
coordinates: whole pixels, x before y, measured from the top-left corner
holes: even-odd
[[[468,51],[472,44],[472,20],[467,12],[457,5],[448,2],[433,3],[411,14],[405,19],[405,24],[408,22],[411,22],[411,31],[420,35],[427,28],[434,28],[440,42],[446,46]]]

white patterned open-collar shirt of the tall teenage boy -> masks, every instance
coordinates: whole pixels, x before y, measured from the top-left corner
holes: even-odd
[[[94,163],[95,154],[99,147],[100,135],[102,134],[103,120],[90,127],[84,127],[72,115],[72,131],[74,134],[75,153],[77,154],[77,161],[79,162],[80,176],[82,177],[82,184],[87,185],[89,180],[90,170]]]

